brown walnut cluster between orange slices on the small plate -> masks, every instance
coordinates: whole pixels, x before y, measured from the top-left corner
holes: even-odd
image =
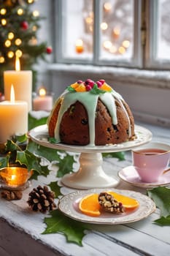
[[[98,195],[98,203],[104,211],[109,211],[112,214],[124,212],[123,204],[115,200],[115,198],[107,192],[101,192]]]

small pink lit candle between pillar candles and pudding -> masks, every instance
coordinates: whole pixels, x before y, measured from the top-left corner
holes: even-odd
[[[50,111],[53,108],[53,96],[47,95],[45,88],[39,89],[39,96],[33,99],[33,109]]]

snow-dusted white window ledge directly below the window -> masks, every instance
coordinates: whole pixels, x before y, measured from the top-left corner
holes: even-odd
[[[128,69],[123,67],[104,67],[82,64],[50,64],[48,70],[52,72],[66,72],[77,74],[100,75],[100,78],[139,83],[140,86],[170,90],[170,72],[144,69]]]

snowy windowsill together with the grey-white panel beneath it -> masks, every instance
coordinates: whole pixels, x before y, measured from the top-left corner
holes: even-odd
[[[134,117],[170,127],[170,72],[80,64],[50,64],[51,90],[58,97],[76,80],[104,79],[131,107]]]

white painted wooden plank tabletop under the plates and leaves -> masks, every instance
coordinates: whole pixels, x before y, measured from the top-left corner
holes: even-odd
[[[152,132],[153,141],[170,143],[170,129],[139,124]],[[125,161],[104,160],[104,170],[117,176],[123,167],[131,165],[131,152],[125,152]],[[114,167],[114,173],[113,173]],[[28,192],[39,184],[57,181],[53,172],[47,178],[39,177],[31,187],[23,191],[21,200],[7,201],[0,198],[0,255],[1,256],[135,256],[170,255],[170,227],[155,225],[153,220],[160,217],[156,209],[149,217],[138,222],[123,225],[94,225],[82,240],[82,246],[67,243],[59,233],[42,235],[45,230],[45,214],[35,213],[28,208]],[[146,193],[145,189],[134,187],[124,181],[116,189],[128,189]],[[62,188],[63,194],[74,191]],[[47,215],[48,216],[48,215]]]

